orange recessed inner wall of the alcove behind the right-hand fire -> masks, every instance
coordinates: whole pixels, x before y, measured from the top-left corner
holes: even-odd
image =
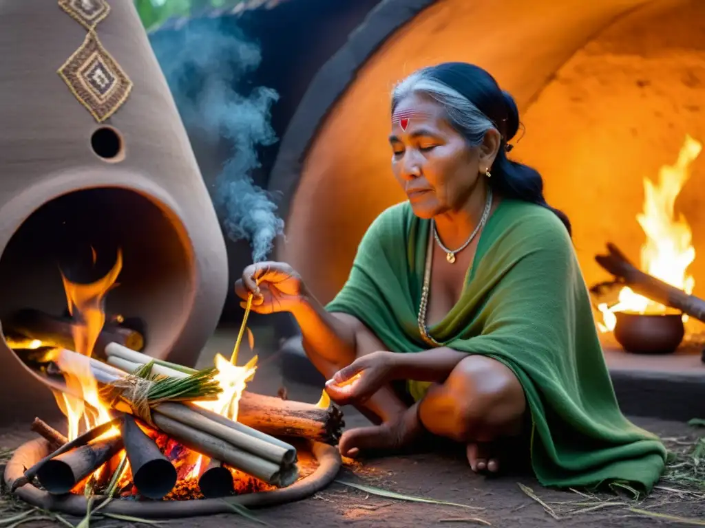
[[[518,158],[546,176],[546,195],[575,225],[589,283],[606,241],[639,262],[643,179],[678,158],[685,134],[705,144],[705,4],[655,1],[619,20],[556,73],[524,115]],[[692,227],[689,271],[705,296],[705,153],[676,201]],[[589,204],[589,206],[588,206]]]

